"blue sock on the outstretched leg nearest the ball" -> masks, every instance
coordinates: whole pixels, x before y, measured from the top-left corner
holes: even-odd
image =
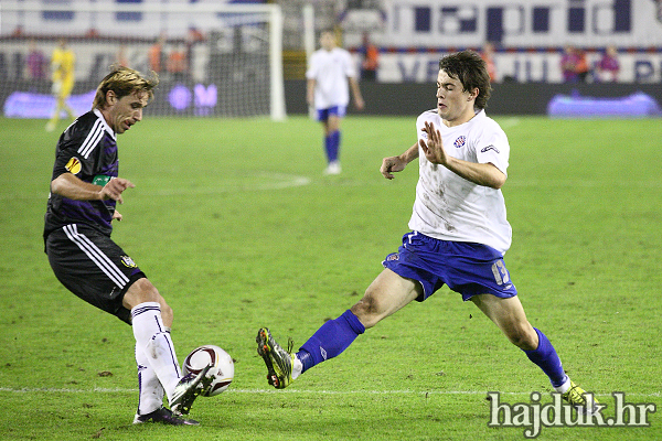
[[[335,320],[329,320],[297,353],[297,357],[303,364],[303,372],[340,355],[364,332],[365,327],[350,310]]]

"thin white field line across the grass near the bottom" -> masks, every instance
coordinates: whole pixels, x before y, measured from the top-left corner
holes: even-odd
[[[50,394],[134,394],[138,389],[125,389],[125,388],[100,388],[95,387],[93,389],[71,389],[71,388],[12,388],[12,387],[0,387],[0,392],[15,392],[15,394],[35,394],[35,392],[50,392]],[[487,390],[275,390],[275,389],[228,389],[224,394],[284,394],[284,395],[488,395]],[[528,392],[500,392],[501,395],[512,396],[528,396]],[[610,397],[611,394],[595,394],[597,397]],[[662,397],[662,392],[652,394],[640,394],[640,392],[626,392],[628,397]]]

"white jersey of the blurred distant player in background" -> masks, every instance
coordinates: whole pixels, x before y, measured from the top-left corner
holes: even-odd
[[[314,79],[314,108],[328,109],[350,104],[348,77],[356,77],[352,56],[341,47],[320,49],[310,57],[306,78]]]

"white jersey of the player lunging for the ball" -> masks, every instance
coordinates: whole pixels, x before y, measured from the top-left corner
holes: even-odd
[[[431,122],[441,133],[444,149],[450,157],[476,163],[492,163],[504,174],[510,146],[501,127],[484,110],[462,125],[447,127],[436,110],[423,112],[416,120],[418,139]],[[409,228],[441,240],[488,245],[502,254],[510,248],[512,229],[505,219],[501,190],[478,185],[444,165],[429,162],[419,149],[419,178]]]

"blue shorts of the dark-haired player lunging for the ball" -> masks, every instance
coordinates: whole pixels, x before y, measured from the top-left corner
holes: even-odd
[[[467,301],[477,294],[508,299],[517,294],[501,252],[482,244],[439,240],[418,232],[403,236],[398,252],[386,256],[384,268],[423,286],[421,302],[447,284]]]

